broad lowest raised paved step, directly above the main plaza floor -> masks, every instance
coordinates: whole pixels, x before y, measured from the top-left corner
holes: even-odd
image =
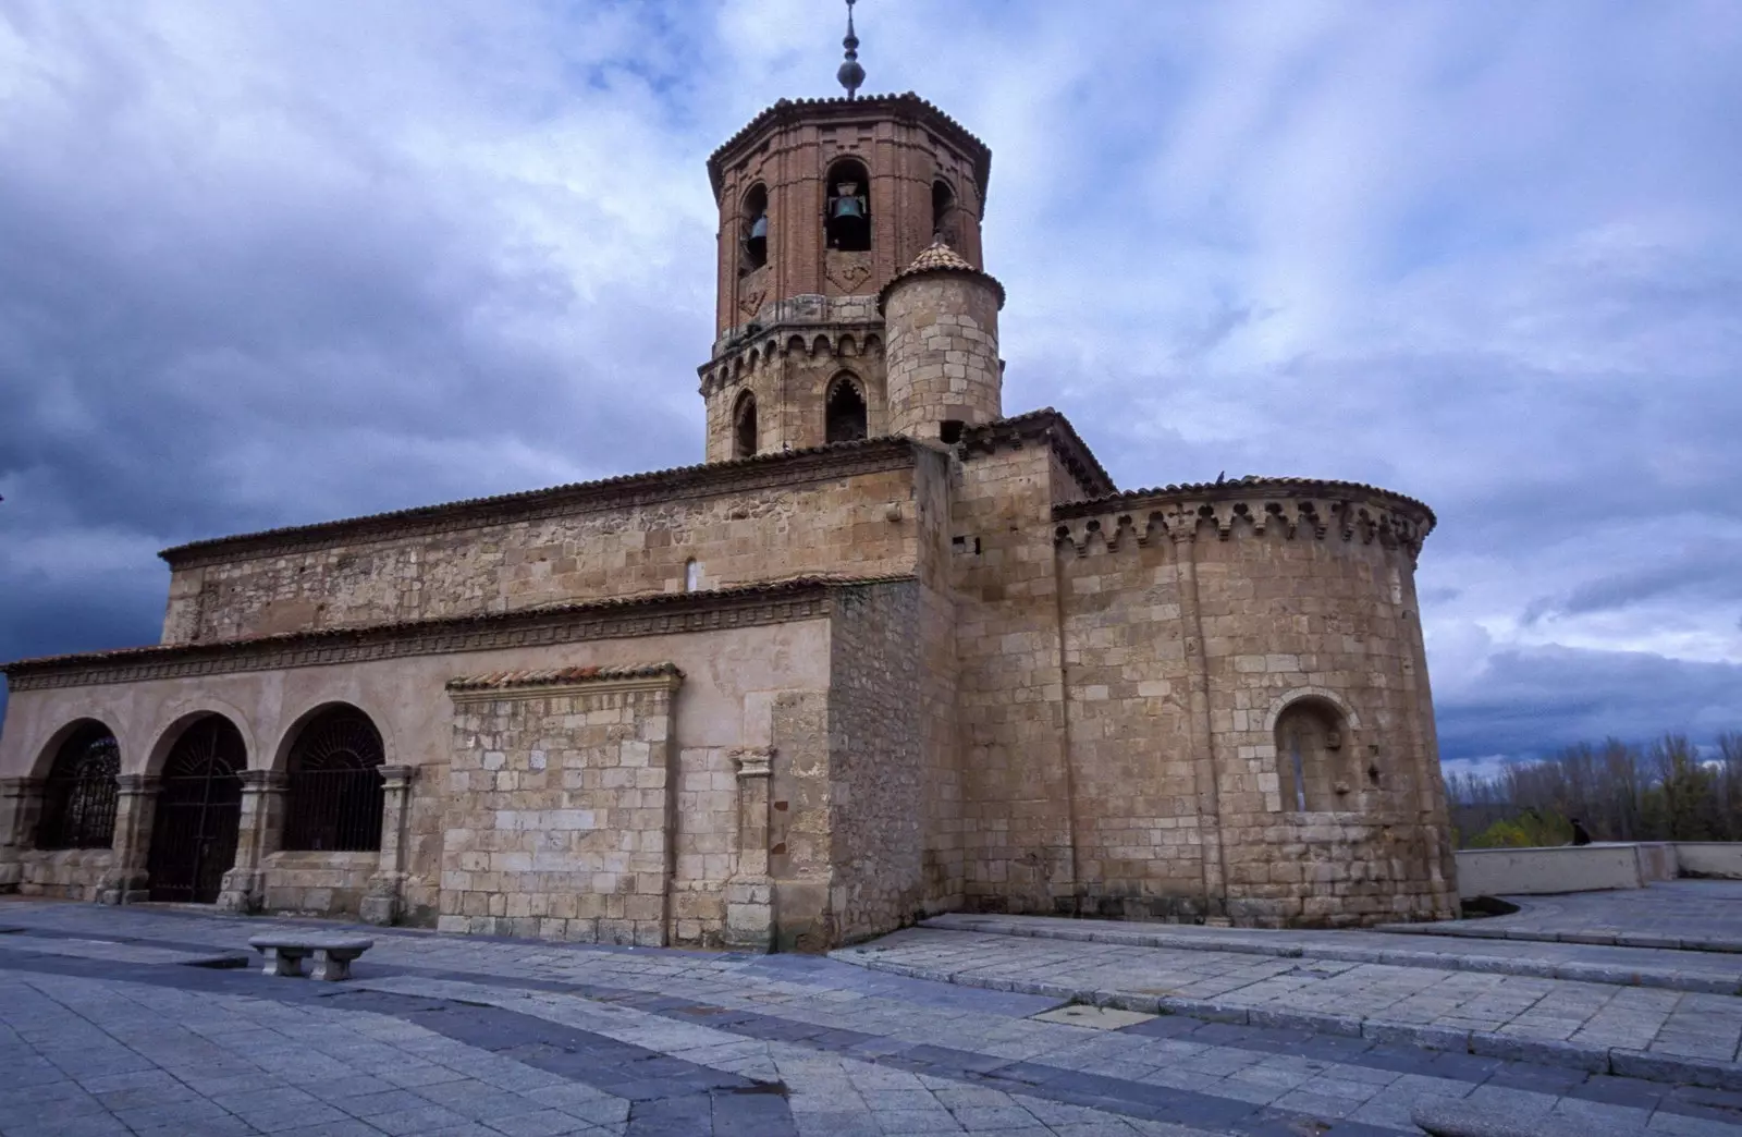
[[[916,978],[1742,1090],[1742,999],[1502,973],[913,928],[834,952]]]

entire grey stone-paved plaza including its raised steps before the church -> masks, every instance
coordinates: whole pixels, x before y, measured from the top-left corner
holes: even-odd
[[[0,1134],[1361,1137],[1420,1134],[1423,1102],[1742,1134],[1739,999],[1700,989],[1739,956],[1648,952],[1646,987],[1514,973],[1644,949],[949,921],[979,924],[827,959],[375,929],[352,982],[317,984],[247,957],[293,921],[7,900]],[[1327,957],[1397,943],[1425,957]],[[1489,1034],[1519,1048],[1472,1052]],[[1643,1076],[1592,1069],[1599,1046]]]

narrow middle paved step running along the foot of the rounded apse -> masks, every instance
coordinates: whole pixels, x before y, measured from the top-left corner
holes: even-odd
[[[934,916],[922,928],[984,931],[1131,947],[1219,950],[1284,959],[1336,959],[1388,963],[1444,971],[1495,971],[1538,978],[1573,978],[1594,984],[1742,994],[1742,957],[1707,952],[1627,949],[1589,943],[1481,942],[1435,943],[1421,936],[1385,931],[1272,931],[1259,928],[1200,928],[1193,924],[1124,924],[1056,916]],[[1421,924],[1437,928],[1439,924]]]

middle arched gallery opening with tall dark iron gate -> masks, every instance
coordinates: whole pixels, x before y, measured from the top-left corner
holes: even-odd
[[[195,718],[176,739],[152,821],[152,900],[218,900],[235,865],[244,769],[242,732],[223,715]]]

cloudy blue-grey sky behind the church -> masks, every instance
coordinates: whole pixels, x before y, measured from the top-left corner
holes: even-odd
[[[995,153],[1007,412],[1374,481],[1444,755],[1742,727],[1742,5],[864,0]],[[702,452],[709,150],[833,0],[0,0],[0,657],[157,549]]]

